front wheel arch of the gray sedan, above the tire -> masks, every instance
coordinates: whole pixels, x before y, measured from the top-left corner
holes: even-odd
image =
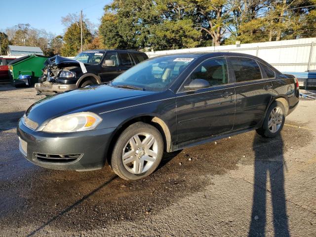
[[[135,116],[133,118],[129,118],[124,120],[118,127],[117,129],[113,132],[111,142],[109,145],[109,149],[107,152],[107,161],[110,164],[111,162],[111,154],[113,152],[114,144],[118,140],[119,135],[131,124],[135,122],[145,122],[153,125],[158,129],[160,132],[162,138],[163,138],[163,143],[164,143],[164,150],[167,152],[171,152],[172,150],[172,141],[171,141],[171,133],[168,125],[159,117],[155,115],[142,115],[142,116]]]

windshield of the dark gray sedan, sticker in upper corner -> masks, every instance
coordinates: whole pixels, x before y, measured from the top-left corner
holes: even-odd
[[[166,90],[194,59],[192,55],[148,59],[118,76],[110,85],[150,91]]]

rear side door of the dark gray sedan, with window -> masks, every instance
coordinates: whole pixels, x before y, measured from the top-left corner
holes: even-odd
[[[264,79],[256,60],[246,57],[228,57],[228,60],[236,81],[233,130],[256,126],[264,118],[272,98],[272,82]]]

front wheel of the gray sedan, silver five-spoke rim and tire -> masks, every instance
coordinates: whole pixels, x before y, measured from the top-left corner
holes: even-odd
[[[111,167],[125,180],[142,179],[157,169],[163,147],[162,136],[156,127],[136,122],[118,137],[111,157]]]

